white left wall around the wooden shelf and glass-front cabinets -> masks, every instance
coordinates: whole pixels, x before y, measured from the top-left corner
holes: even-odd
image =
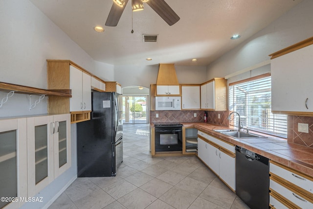
[[[46,59],[69,59],[92,73],[99,72],[99,77],[113,77],[112,66],[95,63],[28,0],[0,0],[0,28],[1,82],[46,89]],[[100,74],[102,68],[108,75]],[[5,95],[0,93],[0,101]],[[32,100],[34,97],[38,98],[32,96]],[[0,118],[46,114],[46,101],[45,98],[29,111],[29,95],[16,94],[0,108]],[[38,194],[44,202],[25,203],[22,208],[44,208],[51,198],[76,178],[76,124],[71,125],[71,136],[71,168]]]

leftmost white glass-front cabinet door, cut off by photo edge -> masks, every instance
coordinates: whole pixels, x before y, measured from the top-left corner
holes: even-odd
[[[26,118],[0,120],[0,208],[19,208],[27,198],[26,138]]]

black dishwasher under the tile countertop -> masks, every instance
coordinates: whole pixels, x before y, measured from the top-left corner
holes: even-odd
[[[268,209],[268,158],[236,145],[236,194],[251,209]]]

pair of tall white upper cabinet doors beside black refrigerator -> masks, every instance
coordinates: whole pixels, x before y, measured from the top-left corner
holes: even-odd
[[[70,65],[70,111],[91,110],[91,76]]]

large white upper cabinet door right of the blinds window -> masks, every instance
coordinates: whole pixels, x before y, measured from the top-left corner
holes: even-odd
[[[313,112],[313,45],[274,58],[270,65],[272,111]]]

